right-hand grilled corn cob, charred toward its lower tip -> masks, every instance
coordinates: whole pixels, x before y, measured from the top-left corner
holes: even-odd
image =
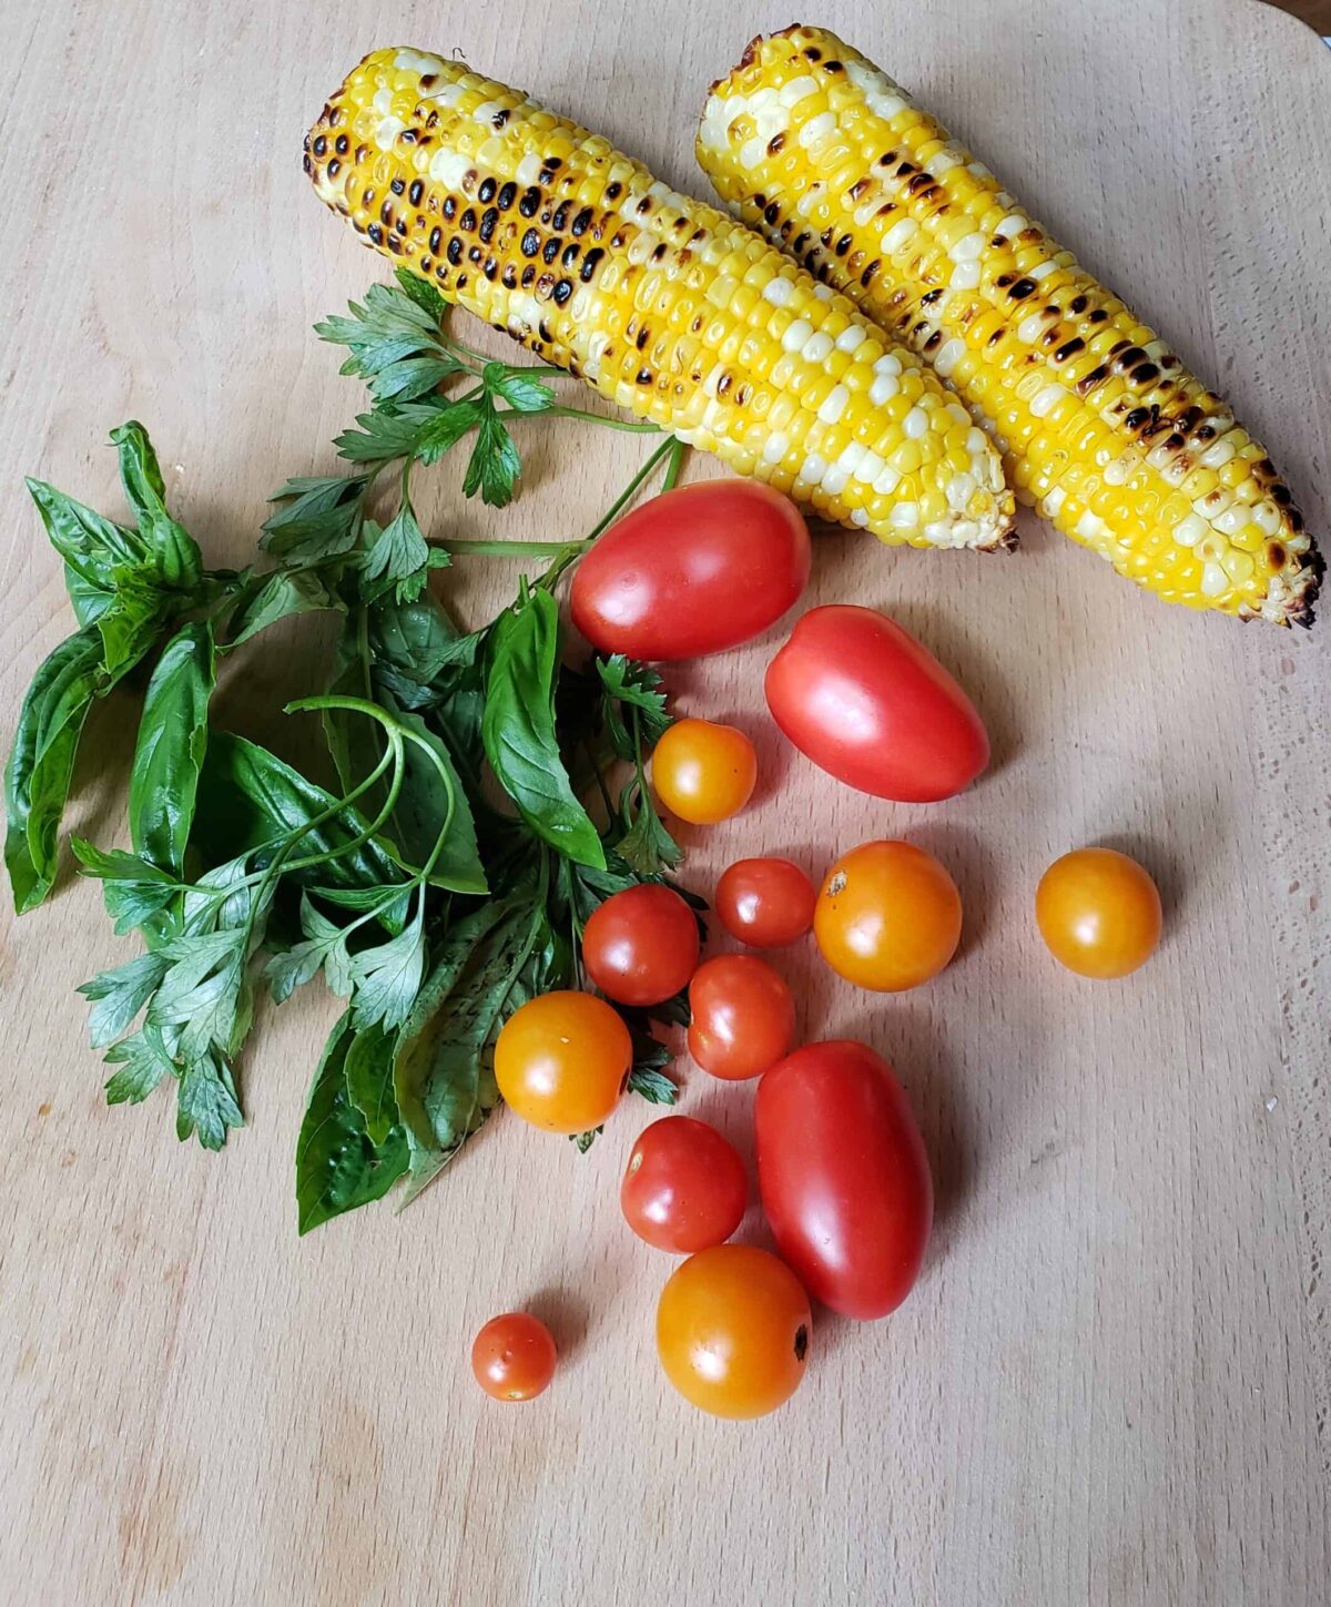
[[[1167,601],[1312,624],[1321,561],[1265,448],[858,51],[756,39],[712,85],[698,159],[934,365],[1064,535]]]

